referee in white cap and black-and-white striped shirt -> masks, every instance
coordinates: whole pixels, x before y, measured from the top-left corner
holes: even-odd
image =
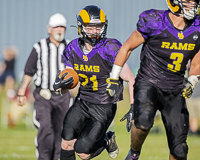
[[[64,39],[66,19],[56,13],[49,19],[49,37],[35,43],[26,62],[24,76],[18,91],[18,105],[26,103],[25,91],[34,76],[33,123],[38,130],[35,138],[38,160],[58,160],[61,146],[61,128],[69,108],[69,91],[62,96],[53,89],[58,70],[65,69],[62,53],[68,40]]]

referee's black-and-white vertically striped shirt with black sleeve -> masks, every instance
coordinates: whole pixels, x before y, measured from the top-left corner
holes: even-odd
[[[58,70],[65,69],[62,54],[68,42],[68,40],[63,40],[57,47],[47,38],[34,44],[26,62],[24,74],[34,76],[36,87],[54,91],[53,83],[56,74]]]

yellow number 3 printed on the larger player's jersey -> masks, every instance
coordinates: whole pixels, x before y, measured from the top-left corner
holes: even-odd
[[[181,70],[181,63],[183,61],[182,53],[172,53],[170,55],[170,59],[173,60],[173,64],[168,64],[167,67],[169,70],[173,72],[177,72]]]

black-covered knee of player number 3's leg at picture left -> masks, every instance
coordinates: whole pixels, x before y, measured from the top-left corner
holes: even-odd
[[[153,120],[148,115],[143,114],[135,121],[135,126],[138,129],[148,131],[153,126]]]

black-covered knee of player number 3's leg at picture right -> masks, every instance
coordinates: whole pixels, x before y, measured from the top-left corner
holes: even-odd
[[[185,158],[188,153],[188,146],[186,143],[178,144],[174,147],[172,155],[176,158]]]

